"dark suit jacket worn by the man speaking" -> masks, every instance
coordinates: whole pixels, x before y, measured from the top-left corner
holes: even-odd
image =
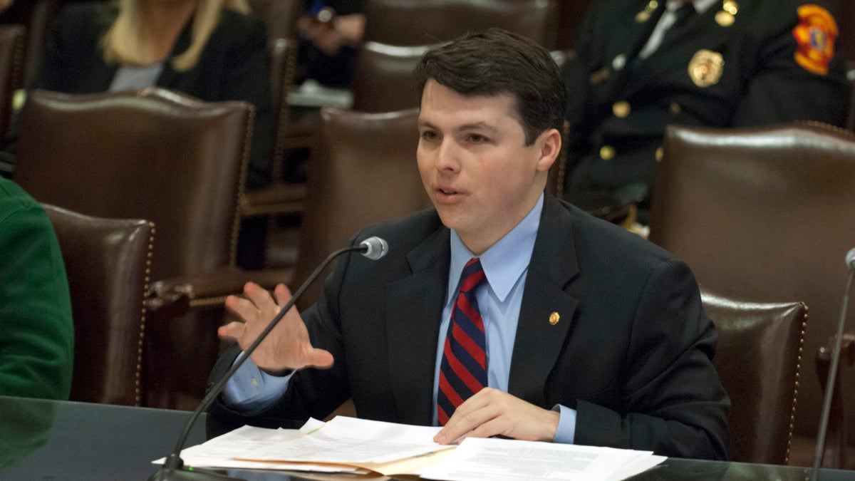
[[[322,419],[348,398],[362,418],[430,425],[449,229],[422,211],[359,233],[385,258],[341,258],[303,313],[328,370],[298,371],[257,416],[217,401],[213,424]],[[561,318],[549,323],[552,312]],[[716,330],[685,264],[636,235],[547,194],[522,299],[509,392],[540,407],[578,410],[580,444],[723,459],[729,401],[711,357]],[[210,381],[237,354],[225,353]]]

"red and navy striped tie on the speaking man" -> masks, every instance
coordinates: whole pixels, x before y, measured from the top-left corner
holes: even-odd
[[[475,288],[485,280],[481,260],[470,259],[460,275],[460,294],[451,309],[451,323],[439,365],[436,411],[442,426],[463,401],[486,386],[484,321],[475,300]]]

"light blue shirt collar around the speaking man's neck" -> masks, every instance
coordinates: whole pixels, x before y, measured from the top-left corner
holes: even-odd
[[[540,228],[540,213],[543,211],[544,194],[522,222],[516,224],[514,229],[493,244],[481,254],[481,267],[484,269],[486,281],[490,284],[492,292],[496,294],[499,302],[510,293],[510,289],[516,284],[522,273],[528,269],[534,251],[534,240]],[[463,267],[474,258],[473,254],[460,240],[453,229],[451,230],[451,268],[449,270],[449,297],[453,298],[457,292],[457,282],[460,281],[460,273]]]

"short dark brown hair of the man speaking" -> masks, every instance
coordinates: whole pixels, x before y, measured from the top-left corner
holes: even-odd
[[[550,128],[563,130],[567,92],[557,64],[522,35],[500,28],[468,33],[428,50],[413,74],[419,92],[433,79],[467,97],[514,95],[526,145]]]

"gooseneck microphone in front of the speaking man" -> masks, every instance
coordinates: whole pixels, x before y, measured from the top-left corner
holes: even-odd
[[[389,245],[386,244],[386,241],[380,239],[380,237],[374,236],[360,242],[359,246],[345,247],[328,255],[327,258],[325,258],[323,262],[321,262],[321,264],[312,271],[310,276],[305,280],[305,282],[303,282],[303,285],[297,289],[297,291],[291,296],[291,299],[286,302],[286,305],[282,307],[278,314],[276,314],[276,317],[270,321],[270,324],[262,330],[262,333],[258,335],[256,340],[250,344],[250,347],[246,348],[244,356],[235,362],[219,381],[211,386],[208,394],[205,395],[198,407],[196,407],[196,410],[193,411],[192,416],[184,426],[184,431],[181,431],[181,436],[179,436],[178,442],[175,442],[172,454],[169,454],[169,457],[163,463],[163,466],[152,474],[148,481],[239,481],[239,478],[230,478],[216,472],[198,470],[192,467],[187,468],[184,466],[184,461],[181,460],[180,454],[181,449],[184,448],[185,442],[187,442],[187,436],[190,435],[190,429],[196,423],[199,415],[201,415],[204,410],[208,409],[211,403],[214,402],[218,395],[220,395],[222,389],[226,387],[228,380],[236,371],[238,371],[246,359],[250,359],[250,354],[255,352],[258,345],[261,344],[270,331],[276,327],[276,324],[279,324],[281,318],[285,317],[286,312],[294,306],[294,303],[300,297],[300,294],[303,294],[303,291],[306,290],[313,281],[315,281],[315,277],[321,274],[321,270],[324,270],[324,268],[327,267],[327,264],[345,252],[361,252],[366,258],[377,260],[385,256],[386,252],[389,252]]]

